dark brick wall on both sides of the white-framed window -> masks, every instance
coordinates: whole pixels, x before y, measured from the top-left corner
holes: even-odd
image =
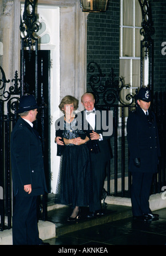
[[[151,0],[154,41],[154,92],[165,91],[166,77],[166,1]],[[164,46],[162,43],[165,42]],[[119,74],[120,0],[110,0],[105,13],[89,13],[87,18],[87,65],[99,64],[103,73],[113,67],[116,79]],[[164,48],[165,47],[165,48]],[[163,52],[162,52],[163,49]],[[164,54],[163,54],[164,53]],[[87,91],[90,74],[87,73]],[[105,78],[103,78],[103,81]]]

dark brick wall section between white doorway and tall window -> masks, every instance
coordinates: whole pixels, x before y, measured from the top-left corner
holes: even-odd
[[[104,13],[89,13],[87,17],[87,65],[96,62],[103,73],[108,74],[113,67],[119,76],[120,45],[120,0],[110,0]],[[90,74],[87,73],[87,83]],[[87,91],[91,91],[87,84]]]

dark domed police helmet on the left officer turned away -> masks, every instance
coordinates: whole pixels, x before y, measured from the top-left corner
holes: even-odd
[[[36,108],[38,108],[38,105],[35,100],[35,97],[30,94],[25,94],[20,98],[17,113],[23,113]]]

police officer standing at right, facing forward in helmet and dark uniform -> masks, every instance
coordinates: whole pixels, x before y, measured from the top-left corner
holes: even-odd
[[[131,202],[134,219],[157,218],[149,208],[149,195],[153,174],[157,173],[160,156],[157,123],[149,109],[151,92],[147,87],[139,89],[138,107],[127,119],[129,147],[129,172],[132,173]]]

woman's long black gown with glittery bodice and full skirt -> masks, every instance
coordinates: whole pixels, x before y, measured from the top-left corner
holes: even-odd
[[[86,134],[76,129],[76,119],[71,123],[64,121],[63,138],[72,139]],[[55,202],[65,205],[85,207],[92,202],[92,173],[90,153],[86,144],[68,144],[63,147]]]

